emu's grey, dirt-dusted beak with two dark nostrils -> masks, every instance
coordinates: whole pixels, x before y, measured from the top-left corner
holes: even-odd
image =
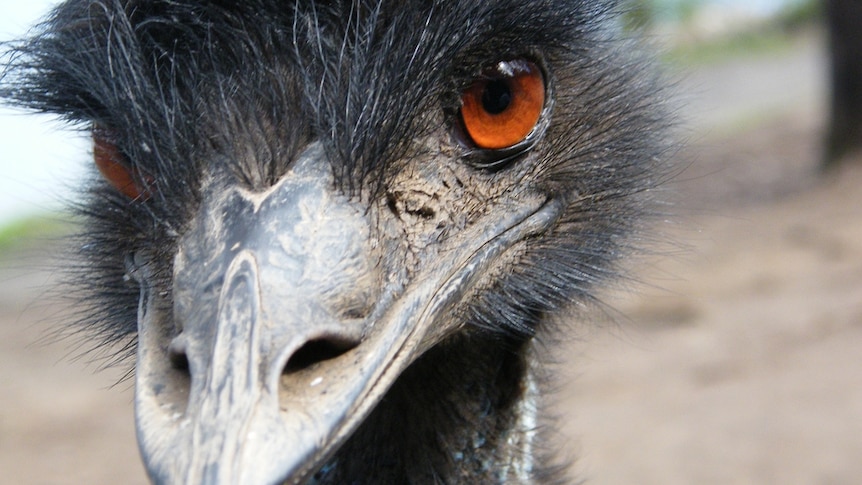
[[[137,256],[136,418],[155,482],[308,480],[458,329],[451,310],[482,270],[561,212],[512,202],[408,281],[388,267],[394,238],[372,237],[379,221],[337,193],[327,163],[312,145],[266,193],[209,184],[171,297]]]

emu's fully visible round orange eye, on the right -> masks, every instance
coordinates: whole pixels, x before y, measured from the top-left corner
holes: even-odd
[[[525,60],[500,62],[461,96],[464,129],[479,148],[499,150],[533,131],[545,106],[545,80]]]

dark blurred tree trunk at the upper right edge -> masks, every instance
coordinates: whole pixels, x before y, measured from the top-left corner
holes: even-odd
[[[862,0],[826,0],[832,99],[825,167],[862,150]]]

